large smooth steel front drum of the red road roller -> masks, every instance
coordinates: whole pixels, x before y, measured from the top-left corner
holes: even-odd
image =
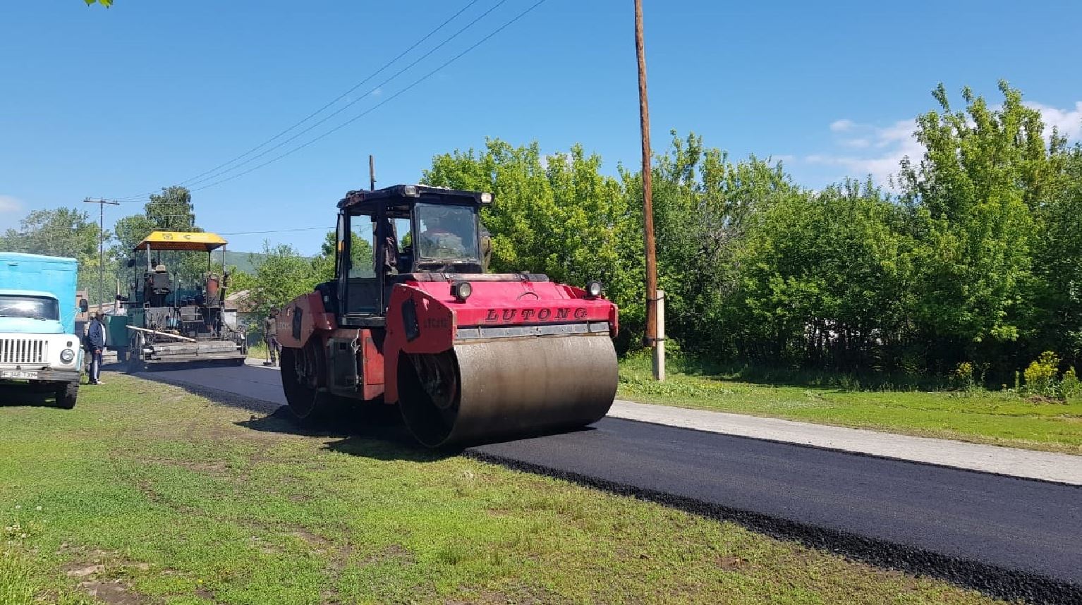
[[[608,334],[457,344],[404,365],[403,417],[431,447],[584,426],[608,413],[618,380]]]

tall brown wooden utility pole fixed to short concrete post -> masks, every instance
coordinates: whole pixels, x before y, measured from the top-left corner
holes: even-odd
[[[643,41],[643,0],[635,0],[635,53],[638,56],[638,122],[643,131],[643,238],[646,245],[646,343],[654,347],[654,378],[664,380],[664,337],[658,333],[658,259],[654,245],[652,173],[650,169],[650,109],[646,102],[646,48]]]

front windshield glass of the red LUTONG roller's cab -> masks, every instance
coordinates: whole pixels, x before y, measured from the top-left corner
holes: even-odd
[[[418,203],[418,255],[424,260],[476,262],[477,221],[466,206]]]

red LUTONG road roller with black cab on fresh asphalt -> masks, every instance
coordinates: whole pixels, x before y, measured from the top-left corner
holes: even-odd
[[[278,315],[281,381],[300,420],[398,405],[443,447],[581,428],[617,390],[617,306],[532,273],[489,274],[487,193],[423,185],[339,202],[335,279]]]

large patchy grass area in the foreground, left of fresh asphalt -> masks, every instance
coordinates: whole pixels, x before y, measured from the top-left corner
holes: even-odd
[[[0,528],[18,525],[0,544],[0,605],[94,591],[184,605],[991,603],[654,503],[105,380],[70,411],[0,406]]]

